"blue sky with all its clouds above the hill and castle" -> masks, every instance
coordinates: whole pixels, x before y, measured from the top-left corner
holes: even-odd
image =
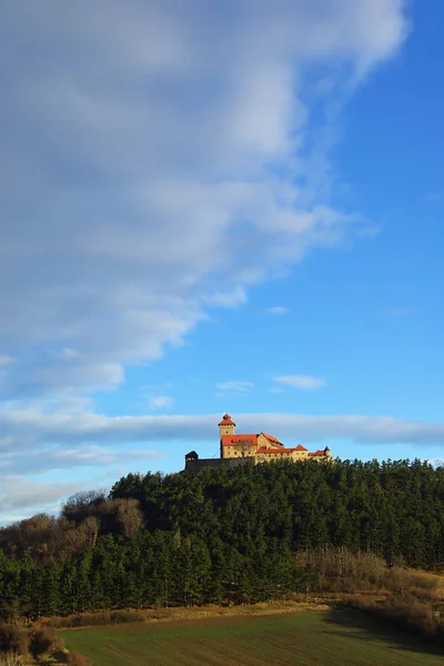
[[[0,9],[0,522],[216,423],[443,457],[444,7]]]

